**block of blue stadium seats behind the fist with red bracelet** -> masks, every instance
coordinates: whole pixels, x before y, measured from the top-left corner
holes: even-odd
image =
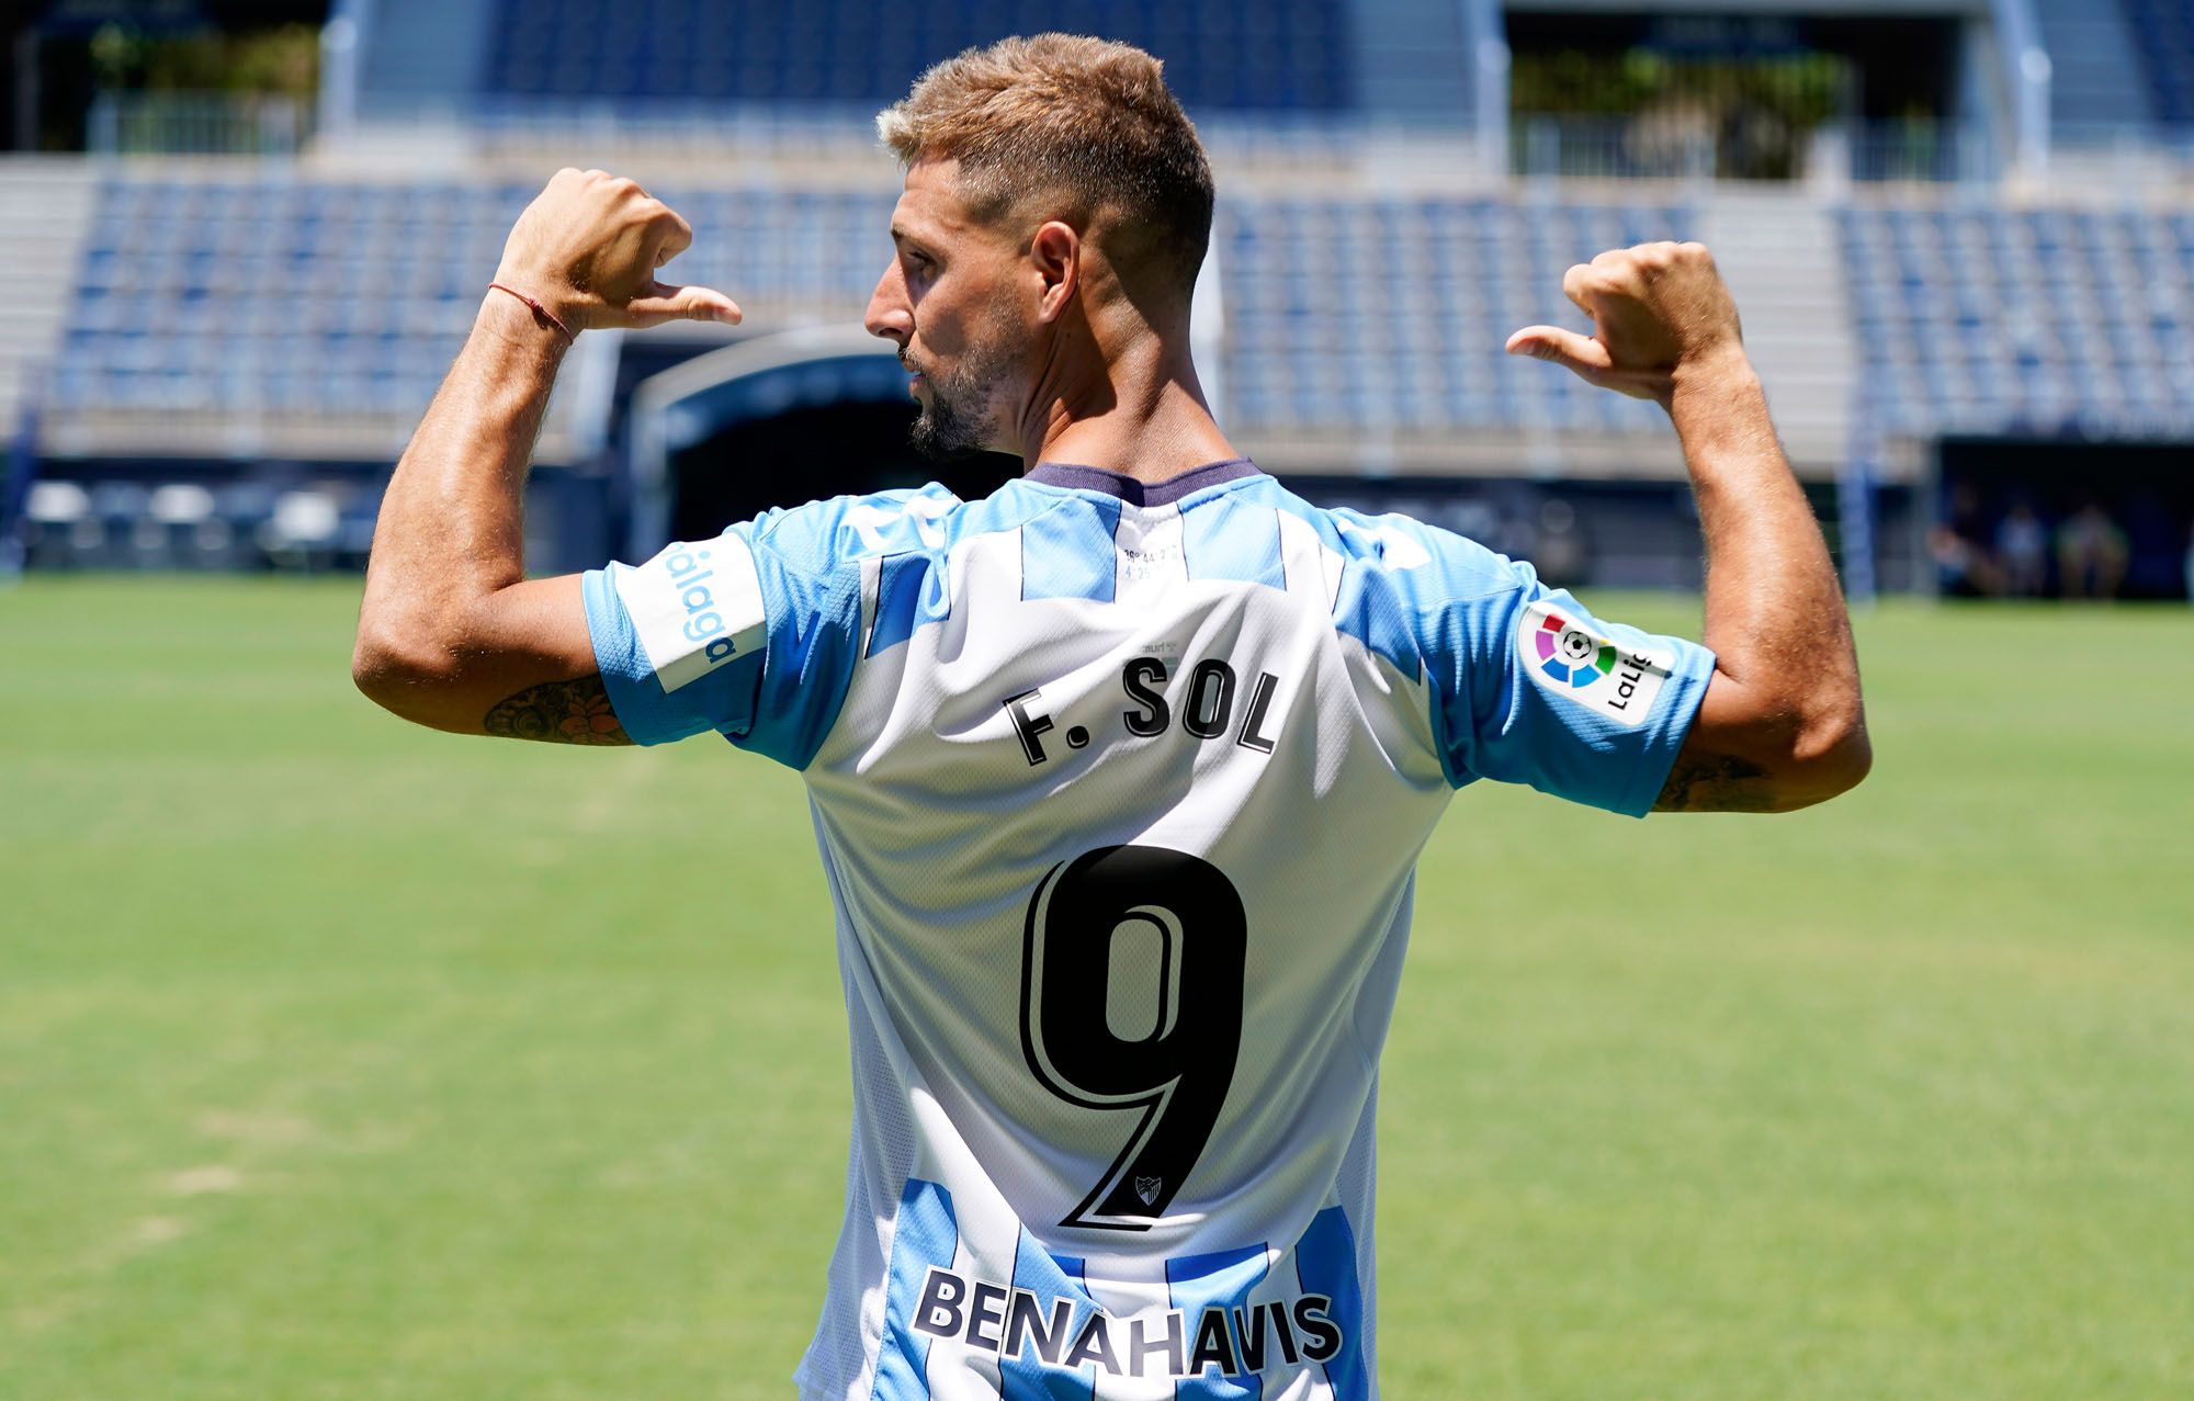
[[[842,318],[889,250],[882,193],[665,193],[709,231],[687,277],[739,285],[779,321]],[[108,178],[50,404],[64,419],[241,415],[408,428],[531,195],[522,184],[294,171]],[[573,400],[559,393],[551,408],[551,457],[555,439],[575,430]],[[373,448],[384,450],[386,437]]]

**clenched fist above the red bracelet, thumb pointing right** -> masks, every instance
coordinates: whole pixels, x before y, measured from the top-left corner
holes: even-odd
[[[634,180],[562,169],[527,204],[502,244],[496,281],[540,299],[573,332],[665,321],[739,323],[713,288],[656,281],[693,244],[693,228]]]

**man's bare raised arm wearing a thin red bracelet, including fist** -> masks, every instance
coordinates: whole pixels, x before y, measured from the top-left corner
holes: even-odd
[[[351,654],[375,703],[456,733],[630,742],[595,668],[579,575],[524,578],[524,483],[573,336],[739,321],[722,292],[656,281],[691,242],[660,200],[603,171],[557,171],[518,217],[382,496]]]

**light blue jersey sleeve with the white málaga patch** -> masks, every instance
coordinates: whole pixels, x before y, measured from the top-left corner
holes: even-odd
[[[948,503],[943,487],[838,496],[588,571],[586,626],[625,733],[713,729],[805,769],[853,676],[862,558],[917,547]]]

